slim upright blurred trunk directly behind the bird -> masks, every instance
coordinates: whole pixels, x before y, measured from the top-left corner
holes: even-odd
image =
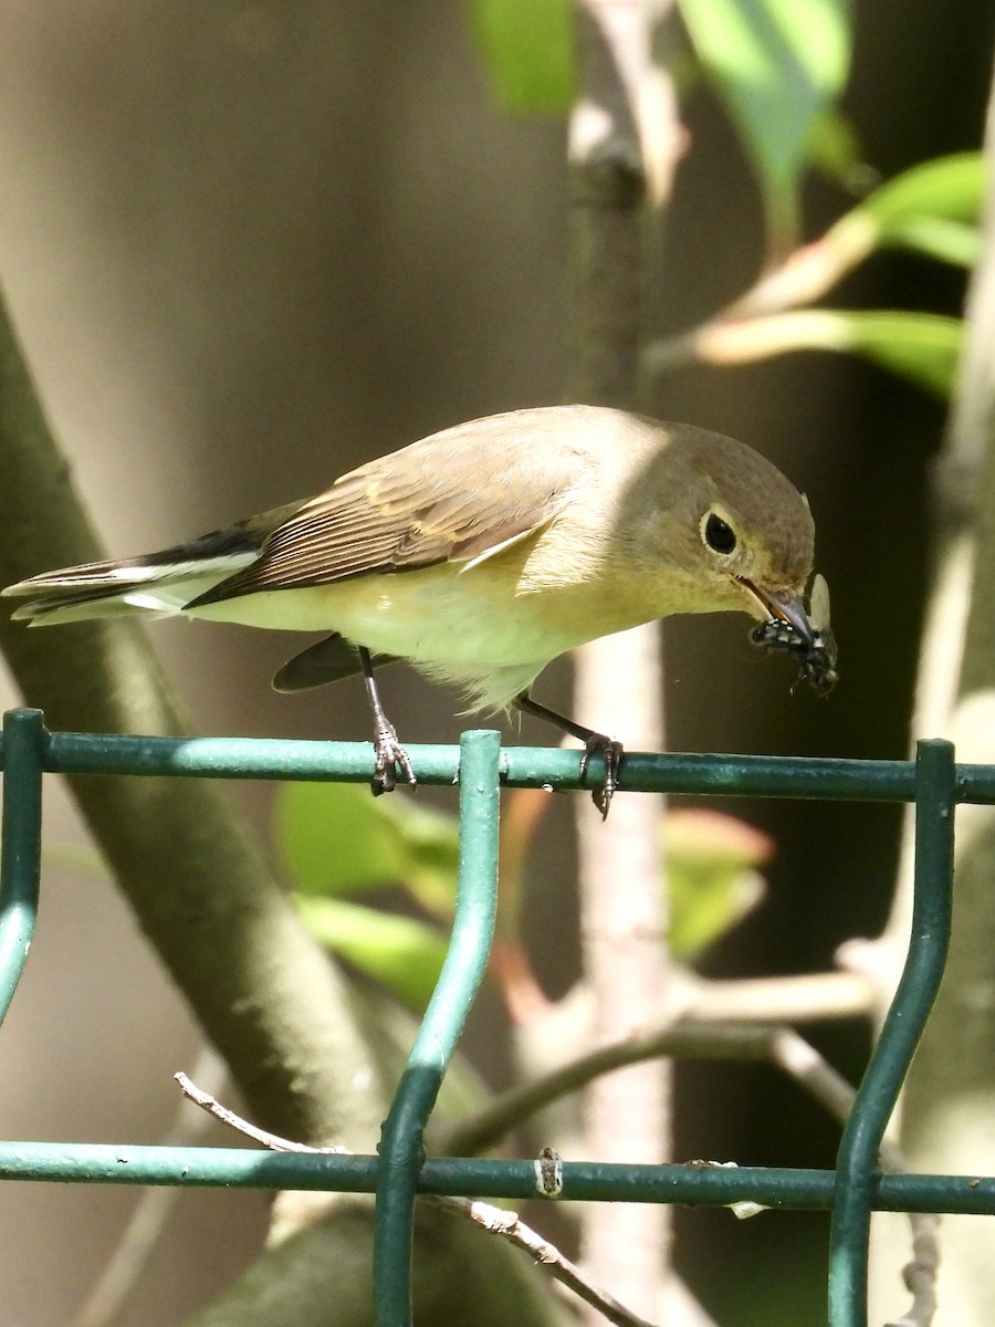
[[[647,195],[663,203],[678,155],[673,89],[654,68],[651,50],[654,19],[663,13],[650,4],[612,0],[585,0],[577,12],[580,89],[569,145],[570,395],[635,410],[645,336],[645,203]],[[606,637],[577,653],[574,694],[581,722],[610,731],[621,721],[630,746],[662,748],[662,689],[657,626]],[[604,824],[586,799],[578,800],[584,974],[593,994],[598,1042],[631,1035],[663,1009],[661,817],[657,796],[622,792]],[[666,1160],[669,1088],[663,1060],[597,1079],[584,1103],[590,1154],[604,1162]],[[646,1318],[661,1311],[669,1239],[665,1205],[585,1208],[584,1258],[593,1279]]]

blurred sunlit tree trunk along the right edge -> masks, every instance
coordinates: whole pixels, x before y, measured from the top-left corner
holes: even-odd
[[[951,738],[959,762],[995,763],[995,97],[983,253],[967,299],[967,338],[947,443],[938,467],[941,516],[914,736]],[[906,835],[909,840],[909,835]],[[911,853],[886,932],[901,962],[909,933]],[[901,1147],[914,1170],[995,1173],[995,808],[961,807],[957,819],[950,961],[901,1107]],[[888,993],[886,993],[888,994]],[[872,1311],[893,1311],[907,1226],[880,1220]],[[939,1227],[937,1327],[995,1320],[995,1231],[978,1217]],[[898,1262],[897,1259],[901,1259]]]

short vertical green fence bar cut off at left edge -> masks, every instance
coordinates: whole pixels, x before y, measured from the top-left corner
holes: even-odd
[[[4,714],[4,807],[0,827],[0,1022],[7,1016],[34,934],[41,869],[41,710]]]

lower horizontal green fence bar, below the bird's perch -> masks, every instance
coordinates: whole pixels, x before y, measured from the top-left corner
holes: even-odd
[[[308,1189],[373,1193],[375,1156],[255,1152],[247,1148],[167,1148],[101,1143],[3,1143],[0,1180],[64,1184],[139,1184],[180,1188]],[[557,1201],[670,1202],[727,1206],[760,1202],[783,1210],[828,1210],[834,1170],[765,1166],[605,1165],[566,1161]],[[531,1161],[429,1158],[419,1193],[479,1198],[536,1197]],[[877,1212],[995,1213],[995,1178],[958,1174],[881,1174]]]

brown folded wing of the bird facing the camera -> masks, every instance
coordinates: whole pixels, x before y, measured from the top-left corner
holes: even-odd
[[[568,447],[549,463],[539,439],[532,447],[515,439],[507,449],[468,455],[454,434],[426,438],[344,475],[273,529],[256,561],[188,606],[483,560],[547,525],[585,459]]]

